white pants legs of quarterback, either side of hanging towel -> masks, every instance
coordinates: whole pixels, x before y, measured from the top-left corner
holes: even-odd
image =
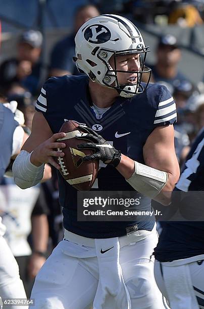
[[[158,236],[154,229],[145,239],[120,248],[119,261],[132,309],[164,308],[154,278],[154,258],[151,256],[157,242]],[[35,306],[30,308],[90,308],[99,279],[97,258],[76,258],[70,254],[84,252],[87,256],[87,252],[92,249],[67,240],[61,241],[36,276],[31,293]]]

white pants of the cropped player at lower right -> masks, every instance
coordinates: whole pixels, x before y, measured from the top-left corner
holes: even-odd
[[[155,261],[155,279],[171,309],[204,308],[204,261],[198,261],[200,257],[166,263]]]

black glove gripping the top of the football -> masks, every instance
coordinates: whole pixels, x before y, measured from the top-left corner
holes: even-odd
[[[105,164],[112,165],[113,167],[116,167],[120,163],[121,152],[119,150],[116,150],[108,141],[97,134],[94,130],[85,126],[79,126],[78,128],[87,133],[77,134],[76,138],[87,139],[88,142],[79,144],[77,148],[92,149],[94,151],[93,155],[82,158],[82,161],[101,160]],[[110,160],[110,163],[106,163]]]

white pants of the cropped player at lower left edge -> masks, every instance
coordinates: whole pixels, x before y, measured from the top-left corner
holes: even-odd
[[[19,276],[18,264],[3,236],[0,236],[0,297],[27,298],[23,282]],[[26,309],[28,306],[11,305],[5,308]]]

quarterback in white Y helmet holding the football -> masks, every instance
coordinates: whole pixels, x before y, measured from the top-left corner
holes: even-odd
[[[165,86],[141,82],[150,69],[139,30],[124,17],[101,15],[82,25],[75,43],[77,68],[88,76],[43,85],[32,133],[14,163],[16,183],[36,184],[46,162],[60,169],[54,157],[64,156],[56,148],[65,147],[57,141],[65,133],[58,132],[72,119],[87,126],[76,136],[87,143],[78,148],[95,150],[83,160],[100,160],[95,190],[135,190],[145,211],[151,198],[168,204],[179,177],[176,108]],[[77,191],[58,174],[65,238],[36,277],[35,308],[163,308],[153,274],[155,220],[79,222]]]

